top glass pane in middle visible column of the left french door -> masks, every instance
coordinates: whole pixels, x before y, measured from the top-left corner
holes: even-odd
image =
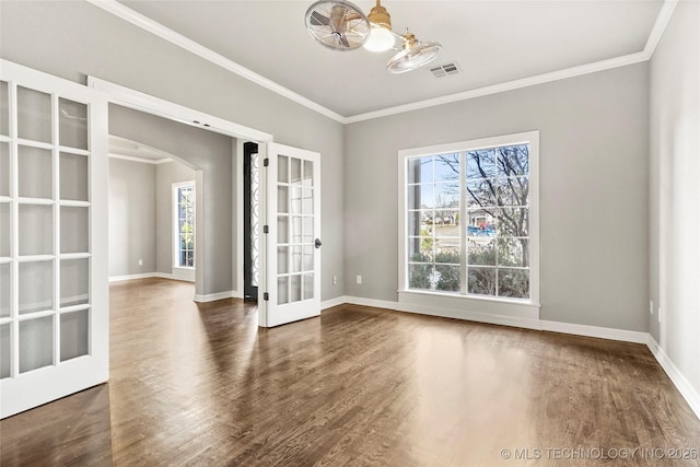
[[[18,136],[51,142],[51,96],[18,86]]]

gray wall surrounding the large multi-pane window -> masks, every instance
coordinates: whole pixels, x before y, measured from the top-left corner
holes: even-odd
[[[398,150],[539,130],[540,317],[646,330],[648,96],[641,63],[347,126],[346,293],[397,300]]]

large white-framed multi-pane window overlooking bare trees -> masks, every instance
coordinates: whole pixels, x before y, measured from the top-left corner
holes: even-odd
[[[401,290],[538,301],[538,132],[399,152]]]

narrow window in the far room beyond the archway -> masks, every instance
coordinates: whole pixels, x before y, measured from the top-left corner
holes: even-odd
[[[195,267],[195,183],[173,184],[174,266]]]

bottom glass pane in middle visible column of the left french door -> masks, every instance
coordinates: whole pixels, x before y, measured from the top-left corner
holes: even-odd
[[[54,317],[20,323],[20,373],[54,363]]]

